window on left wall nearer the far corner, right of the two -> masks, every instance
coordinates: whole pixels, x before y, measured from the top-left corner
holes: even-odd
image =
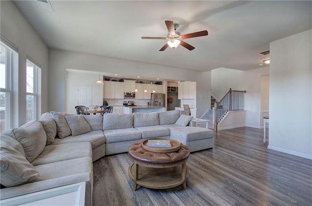
[[[41,69],[27,59],[26,64],[26,121],[37,119],[40,115]]]

